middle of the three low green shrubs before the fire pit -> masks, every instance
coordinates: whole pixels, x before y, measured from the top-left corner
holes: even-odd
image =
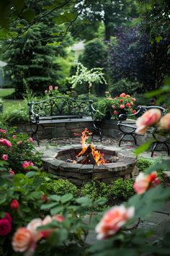
[[[108,197],[109,186],[103,182],[95,180],[87,182],[81,187],[81,195],[97,199],[99,197]]]

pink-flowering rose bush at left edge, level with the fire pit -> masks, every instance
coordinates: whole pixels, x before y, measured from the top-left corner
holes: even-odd
[[[3,132],[1,132],[3,130]],[[41,165],[40,153],[35,153],[34,143],[26,134],[15,129],[0,129],[0,170],[24,172]],[[27,164],[28,163],[28,164]]]

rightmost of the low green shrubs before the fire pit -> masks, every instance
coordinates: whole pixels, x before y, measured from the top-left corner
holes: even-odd
[[[112,182],[113,187],[109,189],[109,197],[115,200],[127,200],[135,195],[133,179],[117,179]]]

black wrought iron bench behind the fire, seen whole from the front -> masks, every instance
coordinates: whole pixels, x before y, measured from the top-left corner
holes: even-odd
[[[35,137],[37,144],[40,145],[37,131],[40,126],[45,124],[91,122],[93,124],[92,137],[99,133],[102,142],[102,132],[94,122],[93,114],[96,111],[92,106],[93,101],[78,101],[72,98],[55,96],[44,101],[30,102],[29,115],[31,137]]]

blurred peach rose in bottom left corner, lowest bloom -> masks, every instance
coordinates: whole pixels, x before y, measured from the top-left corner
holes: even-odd
[[[26,228],[19,228],[12,238],[14,252],[34,252],[35,241],[32,232]]]

